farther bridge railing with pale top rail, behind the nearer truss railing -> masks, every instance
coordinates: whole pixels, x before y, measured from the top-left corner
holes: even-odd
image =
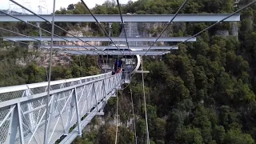
[[[66,80],[58,80],[50,82],[50,90],[58,90],[67,86],[74,86],[84,82],[90,82],[98,78],[110,76],[111,73],[87,76],[82,78],[70,78]],[[48,82],[32,83],[20,86],[0,87],[0,102],[8,101],[14,98],[22,98],[31,94],[40,94],[46,92]]]

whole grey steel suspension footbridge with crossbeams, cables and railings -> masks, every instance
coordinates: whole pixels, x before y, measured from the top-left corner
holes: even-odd
[[[124,56],[155,56],[170,53],[170,50],[178,50],[178,46],[185,42],[196,42],[196,37],[211,27],[221,22],[239,22],[242,10],[253,5],[256,1],[237,10],[233,14],[178,14],[186,5],[182,3],[176,14],[170,15],[136,15],[122,14],[118,2],[119,13],[94,15],[82,1],[90,14],[87,15],[38,15],[27,9],[14,0],[14,4],[21,6],[32,14],[15,15],[8,14],[2,10],[0,22],[25,22],[27,25],[43,29],[32,22],[48,22],[52,25],[52,30],[43,30],[51,37],[34,37],[30,35],[18,34],[17,32],[0,28],[0,30],[17,36],[2,36],[2,39],[10,42],[44,42],[47,45],[40,47],[67,54],[89,54],[89,55],[119,55]],[[54,1],[55,6],[55,1]],[[54,8],[55,9],[55,8]],[[53,10],[54,12],[55,10]],[[77,37],[68,31],[57,26],[54,22],[96,22],[107,37]],[[101,22],[120,22],[122,34],[114,38],[106,32]],[[132,23],[131,23],[132,22]],[[166,22],[166,27],[162,33],[155,38],[140,37],[136,22]],[[166,28],[173,22],[211,22],[212,25],[190,37],[161,38]],[[59,28],[70,34],[70,37],[63,37],[54,34],[54,28]],[[54,42],[71,42],[70,45],[54,45]],[[76,42],[84,42],[86,45],[78,45]],[[110,46],[92,46],[89,42],[110,42]],[[120,42],[120,43],[119,43]],[[146,42],[153,42],[149,45]],[[156,42],[178,42],[175,46],[155,46]],[[28,44],[28,43],[26,43]],[[29,44],[28,44],[29,45]],[[84,50],[79,50],[82,48]],[[78,49],[78,50],[75,50]],[[113,50],[114,49],[114,50]],[[126,51],[125,51],[126,49]],[[51,55],[50,55],[51,56]],[[51,59],[51,58],[50,58]],[[140,58],[137,65],[141,65]],[[133,63],[133,62],[131,62]],[[106,63],[107,65],[107,63]],[[129,65],[129,64],[128,64]],[[50,61],[51,66],[51,61]],[[142,73],[135,66],[134,73]],[[110,68],[111,69],[111,68]],[[82,135],[82,130],[90,123],[96,115],[104,115],[103,109],[107,105],[109,98],[117,96],[118,90],[122,90],[122,85],[130,82],[131,74],[122,72],[112,74],[106,72],[94,76],[71,78],[59,81],[49,81],[33,83],[21,86],[9,86],[0,88],[0,142],[1,143],[54,143],[61,138],[60,143],[71,143],[75,138]],[[144,94],[144,102],[145,94]],[[146,106],[146,105],[145,105]],[[118,112],[117,112],[118,113]],[[147,124],[147,122],[146,122]],[[147,129],[148,126],[146,125]],[[118,127],[117,127],[118,128]],[[117,130],[118,131],[118,130]],[[149,133],[147,130],[147,142],[149,143]],[[116,141],[117,142],[117,141]]]

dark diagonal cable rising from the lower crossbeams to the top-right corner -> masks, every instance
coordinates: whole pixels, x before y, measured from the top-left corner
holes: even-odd
[[[200,32],[198,32],[197,34],[194,34],[194,35],[191,36],[190,38],[187,38],[187,39],[186,39],[185,41],[183,41],[183,42],[179,42],[179,43],[178,43],[177,45],[175,45],[175,46],[179,46],[179,45],[181,45],[182,43],[187,42],[187,41],[190,40],[191,38],[194,38],[194,37],[198,36],[199,34],[202,34],[203,32],[205,32],[206,30],[209,30],[210,28],[214,27],[214,26],[217,25],[218,23],[224,22],[226,19],[232,17],[234,14],[238,14],[238,13],[239,13],[240,11],[242,11],[242,10],[245,10],[247,7],[253,5],[255,2],[256,2],[256,0],[254,0],[254,2],[250,2],[249,4],[247,4],[246,6],[243,6],[241,9],[235,11],[234,13],[230,14],[230,15],[227,16],[226,18],[223,18],[223,19],[221,19],[220,21],[215,22],[215,23],[212,24],[211,26],[206,27],[206,29],[201,30]],[[170,47],[169,50],[174,49],[175,46]],[[164,54],[166,51],[169,51],[169,50],[164,50],[161,54],[158,54],[158,55],[162,55],[162,54]]]

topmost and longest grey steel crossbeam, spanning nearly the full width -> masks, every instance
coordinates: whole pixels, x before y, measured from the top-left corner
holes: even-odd
[[[229,15],[230,14],[178,14],[174,22],[218,22],[220,19],[226,18]],[[15,14],[14,16],[26,22],[45,22],[32,14]],[[52,15],[50,14],[40,16],[50,22],[52,21]],[[118,14],[95,14],[95,17],[99,22],[121,22]],[[169,22],[170,19],[174,17],[174,14],[127,14],[122,17],[124,22]],[[225,22],[239,21],[240,14],[236,14],[226,19]],[[0,15],[0,22],[18,22],[18,20],[6,15]],[[90,14],[63,14],[55,15],[55,22],[95,22],[95,20]]]

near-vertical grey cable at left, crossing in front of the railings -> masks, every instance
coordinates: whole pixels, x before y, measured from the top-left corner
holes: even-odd
[[[55,0],[54,0],[54,8],[53,8],[53,20],[51,27],[51,42],[50,42],[50,62],[49,62],[49,76],[48,76],[48,89],[46,96],[46,123],[45,123],[45,134],[44,134],[44,143],[47,144],[47,131],[48,131],[48,105],[49,105],[49,96],[50,96],[50,76],[51,76],[51,66],[52,66],[52,58],[53,58],[53,45],[54,45],[54,18],[55,18]],[[52,103],[52,105],[54,105]]]

